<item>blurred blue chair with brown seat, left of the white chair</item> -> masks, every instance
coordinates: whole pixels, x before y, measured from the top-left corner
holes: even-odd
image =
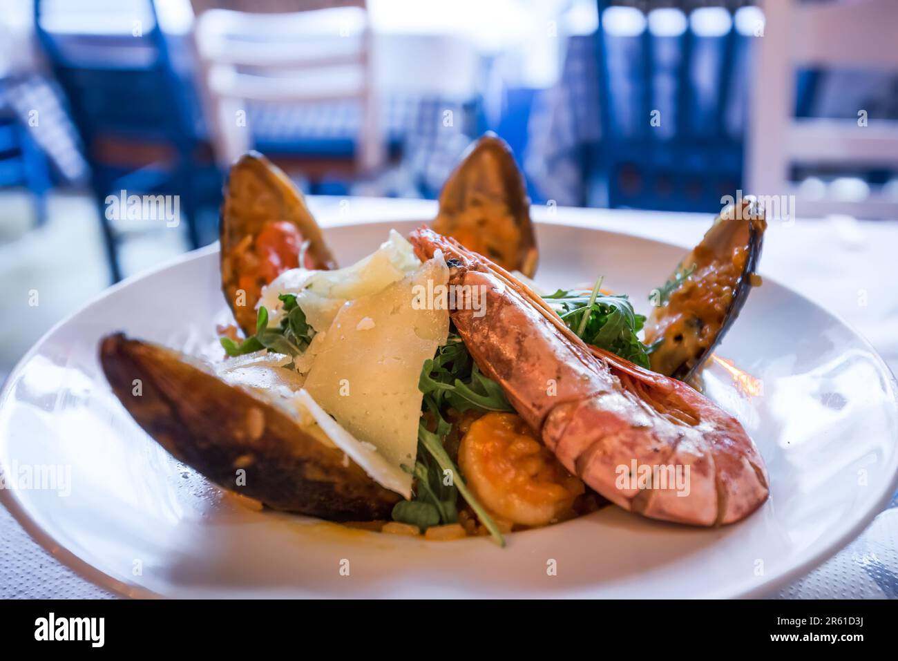
[[[34,23],[91,165],[112,280],[121,278],[119,237],[103,207],[120,190],[180,196],[180,216],[197,248],[198,210],[218,204],[221,176],[153,0],[86,0],[77,7],[35,0]]]

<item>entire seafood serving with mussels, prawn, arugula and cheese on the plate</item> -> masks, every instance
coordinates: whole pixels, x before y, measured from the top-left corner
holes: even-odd
[[[603,507],[734,524],[770,480],[700,371],[761,284],[764,229],[752,202],[724,209],[639,293],[643,315],[599,273],[541,288],[524,179],[495,135],[463,156],[431,224],[351,265],[286,174],[248,153],[221,213],[222,357],[113,333],[101,366],[159,445],[250,507],[500,545]]]

